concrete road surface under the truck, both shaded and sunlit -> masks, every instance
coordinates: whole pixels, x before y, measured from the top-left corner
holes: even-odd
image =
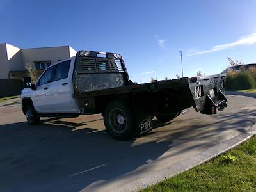
[[[20,105],[0,107],[0,191],[108,191],[246,132],[256,100],[228,95],[217,115],[188,113],[141,138],[116,141],[100,115],[29,126]]]

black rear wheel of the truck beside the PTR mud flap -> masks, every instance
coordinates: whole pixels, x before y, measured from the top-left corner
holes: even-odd
[[[124,102],[110,102],[106,106],[103,116],[106,130],[115,140],[129,140],[134,136],[132,112]]]

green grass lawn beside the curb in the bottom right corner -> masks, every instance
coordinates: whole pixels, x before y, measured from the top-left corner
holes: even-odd
[[[256,191],[256,136],[228,153],[143,191]]]

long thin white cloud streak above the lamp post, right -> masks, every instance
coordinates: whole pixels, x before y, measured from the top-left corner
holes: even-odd
[[[252,44],[255,44],[255,43],[256,43],[256,33],[252,33],[251,35],[242,36],[236,42],[232,42],[232,43],[229,43],[229,44],[223,44],[223,45],[216,45],[216,46],[212,47],[212,49],[209,49],[209,50],[206,50],[206,51],[194,52],[194,53],[191,53],[191,54],[187,54],[185,56],[194,56],[194,55],[198,55],[198,54],[205,54],[205,53],[209,53],[209,52],[228,49],[230,47],[236,47],[236,46],[239,46],[239,45],[252,45]]]

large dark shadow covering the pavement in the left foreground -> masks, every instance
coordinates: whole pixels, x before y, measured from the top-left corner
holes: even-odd
[[[134,140],[116,141],[93,128],[72,131],[81,125],[65,123],[0,125],[0,191],[79,191],[157,159],[172,144],[133,147]]]

